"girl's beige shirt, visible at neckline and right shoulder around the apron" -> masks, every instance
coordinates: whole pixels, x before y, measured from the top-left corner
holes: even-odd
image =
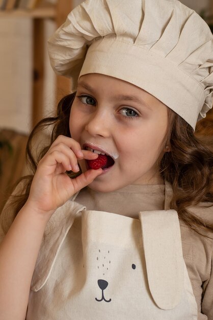
[[[170,209],[171,195],[171,188],[168,184],[166,184],[166,187],[164,185],[130,185],[110,193],[94,192],[89,188],[84,188],[77,195],[75,201],[85,205],[87,210],[113,212],[138,219],[139,211]],[[212,219],[212,208],[203,209],[199,206],[193,208],[193,212],[206,219]],[[213,241],[199,236],[183,223],[180,223],[180,228],[183,258],[198,304],[199,320],[213,320],[213,277],[211,270]]]

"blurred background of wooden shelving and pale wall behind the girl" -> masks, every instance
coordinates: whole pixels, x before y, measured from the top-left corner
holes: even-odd
[[[69,93],[69,81],[51,70],[46,42],[81,2],[0,0],[0,209],[8,186],[23,174],[29,132]],[[213,0],[181,2],[212,28]],[[212,129],[212,112],[208,119],[201,129]]]

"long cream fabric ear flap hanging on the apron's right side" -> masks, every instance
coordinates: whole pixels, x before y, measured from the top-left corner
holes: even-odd
[[[139,213],[149,289],[156,305],[175,308],[184,288],[178,215],[175,210]]]

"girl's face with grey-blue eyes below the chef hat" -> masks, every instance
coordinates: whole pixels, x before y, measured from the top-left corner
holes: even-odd
[[[85,149],[103,150],[114,165],[89,185],[110,192],[127,185],[163,183],[157,171],[168,126],[165,104],[145,90],[110,76],[79,78],[70,112],[70,133]],[[82,171],[88,170],[83,159]]]

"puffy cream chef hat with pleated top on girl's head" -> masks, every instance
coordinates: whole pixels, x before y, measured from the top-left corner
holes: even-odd
[[[72,79],[99,73],[143,88],[193,128],[212,107],[213,36],[176,0],[87,0],[48,40],[52,67]]]

